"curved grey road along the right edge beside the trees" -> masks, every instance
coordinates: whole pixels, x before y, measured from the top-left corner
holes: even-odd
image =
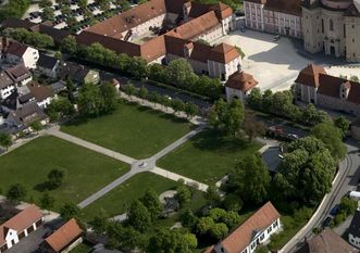
[[[339,175],[336,178],[332,191],[326,194],[325,200],[319,211],[313,215],[310,222],[305,226],[300,232],[294,237],[281,252],[294,253],[305,241],[305,238],[313,236],[312,229],[321,226],[322,222],[326,218],[330,211],[340,202],[340,199],[349,191],[357,187],[358,179],[360,178],[360,156],[358,153],[359,144],[351,140],[346,142],[348,153],[346,159],[339,164]]]

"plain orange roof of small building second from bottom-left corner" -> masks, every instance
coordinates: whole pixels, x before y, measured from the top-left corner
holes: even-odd
[[[83,230],[77,225],[74,218],[70,219],[63,226],[61,226],[57,231],[49,236],[45,241],[50,245],[55,252],[60,252],[66,248],[70,243],[82,236]]]

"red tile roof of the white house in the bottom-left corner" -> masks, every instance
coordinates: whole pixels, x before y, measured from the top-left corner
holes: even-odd
[[[24,231],[32,224],[42,218],[42,213],[36,205],[29,205],[14,217],[0,226],[0,245],[5,243],[5,229],[16,230],[18,233]]]

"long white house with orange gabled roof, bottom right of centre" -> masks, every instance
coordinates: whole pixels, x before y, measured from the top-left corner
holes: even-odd
[[[271,202],[204,253],[252,253],[281,229],[280,214]]]

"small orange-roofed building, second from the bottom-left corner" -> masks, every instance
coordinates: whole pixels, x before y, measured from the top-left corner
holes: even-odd
[[[66,253],[82,243],[83,230],[74,218],[62,225],[52,235],[47,237],[40,249],[44,253]]]

